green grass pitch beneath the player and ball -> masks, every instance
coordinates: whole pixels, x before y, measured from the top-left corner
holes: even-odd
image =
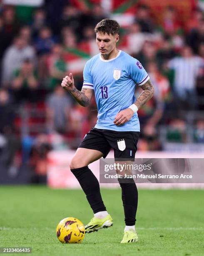
[[[113,227],[86,234],[81,244],[62,244],[55,234],[61,219],[75,217],[87,224],[93,216],[81,190],[1,186],[0,247],[32,247],[31,255],[42,256],[204,255],[204,190],[139,189],[139,241],[132,244],[119,243],[121,191],[101,192]]]

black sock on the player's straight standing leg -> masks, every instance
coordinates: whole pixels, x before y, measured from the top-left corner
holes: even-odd
[[[137,186],[132,179],[130,183],[122,183],[124,179],[118,179],[122,189],[122,202],[124,207],[124,222],[127,226],[135,225],[137,212],[138,192]],[[121,182],[120,182],[121,181]]]

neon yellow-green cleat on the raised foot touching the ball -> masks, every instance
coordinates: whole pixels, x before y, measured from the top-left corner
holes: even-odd
[[[110,215],[107,215],[103,219],[92,218],[90,223],[85,226],[85,233],[92,233],[98,231],[101,228],[109,228],[113,225],[113,220]]]

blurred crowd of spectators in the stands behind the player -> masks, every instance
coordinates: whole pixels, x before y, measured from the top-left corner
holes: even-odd
[[[155,87],[138,112],[138,150],[204,143],[204,11],[196,4],[188,11],[181,15],[171,1],[159,17],[148,1],[49,0],[40,8],[0,1],[0,162],[13,175],[22,162],[46,175],[47,152],[75,149],[95,125],[95,100],[83,108],[60,84],[72,72],[81,89],[83,67],[98,54],[94,27],[107,17],[121,21],[117,48],[139,59]]]

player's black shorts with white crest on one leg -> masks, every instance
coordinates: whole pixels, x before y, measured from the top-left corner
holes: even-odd
[[[114,149],[115,159],[134,160],[137,151],[139,132],[112,131],[92,128],[80,143],[79,148],[89,148],[101,151],[106,158],[110,149]]]

